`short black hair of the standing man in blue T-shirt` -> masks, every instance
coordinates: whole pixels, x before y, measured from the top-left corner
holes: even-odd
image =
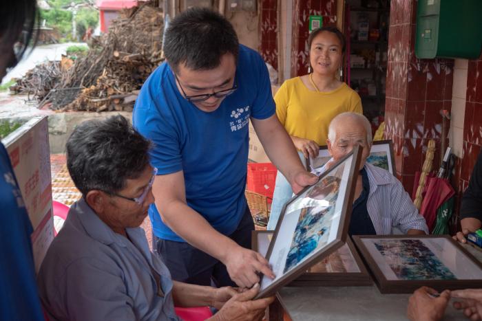
[[[238,58],[239,41],[233,25],[208,8],[190,8],[167,27],[164,54],[169,66],[180,63],[192,70],[209,70],[220,65],[224,54]]]

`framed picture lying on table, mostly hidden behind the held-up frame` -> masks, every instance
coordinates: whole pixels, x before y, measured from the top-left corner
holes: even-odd
[[[266,256],[273,231],[253,231],[251,245],[253,250]],[[351,287],[372,285],[362,258],[348,237],[338,250],[309,267],[287,286],[293,287]]]

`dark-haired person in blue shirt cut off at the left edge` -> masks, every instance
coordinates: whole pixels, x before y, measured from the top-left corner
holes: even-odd
[[[36,0],[3,3],[0,10],[0,82],[17,65],[32,38]],[[24,43],[14,52],[14,43]],[[34,42],[34,41],[33,41]],[[0,142],[0,320],[44,320],[32,254],[32,223],[10,157]]]

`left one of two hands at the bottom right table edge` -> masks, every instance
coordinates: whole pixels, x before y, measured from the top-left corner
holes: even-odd
[[[439,295],[438,297],[436,297]],[[417,289],[408,300],[407,316],[412,321],[437,321],[443,317],[450,300],[450,291],[438,294],[430,287]]]

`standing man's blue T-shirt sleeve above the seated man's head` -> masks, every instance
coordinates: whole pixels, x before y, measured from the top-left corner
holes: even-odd
[[[140,91],[132,122],[134,128],[153,144],[149,156],[158,174],[176,173],[182,170],[180,133],[173,126],[176,121],[169,103],[153,92],[151,82],[153,80]]]

